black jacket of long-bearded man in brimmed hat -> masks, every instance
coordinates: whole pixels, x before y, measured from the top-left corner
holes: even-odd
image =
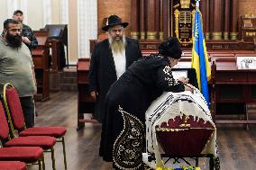
[[[126,68],[133,61],[142,58],[142,52],[137,40],[126,39],[125,57]],[[108,40],[96,43],[90,60],[89,70],[89,91],[98,92],[99,116],[95,115],[98,121],[101,121],[100,112],[104,107],[105,94],[114,82],[117,80],[114,67],[114,58],[110,49]]]

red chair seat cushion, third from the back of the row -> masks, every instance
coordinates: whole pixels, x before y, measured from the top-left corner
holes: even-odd
[[[42,157],[43,150],[39,147],[0,148],[0,161],[22,161],[33,163]]]

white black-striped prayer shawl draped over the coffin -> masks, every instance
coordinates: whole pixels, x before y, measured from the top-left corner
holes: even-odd
[[[160,154],[159,143],[156,138],[155,127],[160,126],[161,122],[168,122],[169,119],[174,119],[176,116],[182,116],[183,114],[194,116],[195,121],[197,117],[204,121],[210,121],[213,127],[215,124],[212,121],[212,117],[206,100],[203,95],[195,90],[194,94],[191,92],[171,93],[166,92],[156,99],[146,112],[146,153],[142,154],[143,162],[151,168],[163,167]],[[205,148],[201,154],[213,154],[216,157],[216,129],[213,135],[207,141]],[[156,160],[148,161],[148,157],[154,155]]]

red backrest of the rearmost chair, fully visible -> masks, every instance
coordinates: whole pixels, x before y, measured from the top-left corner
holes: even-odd
[[[22,130],[24,125],[23,108],[20,102],[19,95],[14,87],[7,88],[6,99],[11,112],[14,129]]]

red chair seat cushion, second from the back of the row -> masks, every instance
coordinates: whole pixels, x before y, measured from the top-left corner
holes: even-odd
[[[5,143],[5,147],[40,147],[43,149],[52,148],[56,139],[49,136],[17,137]]]

